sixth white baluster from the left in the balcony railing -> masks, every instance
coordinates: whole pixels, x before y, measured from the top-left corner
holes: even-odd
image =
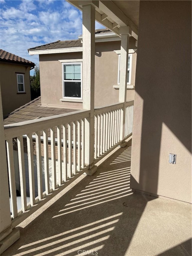
[[[56,184],[56,160],[55,160],[55,127],[50,128],[51,136],[51,169],[52,169],[52,189],[57,187]]]

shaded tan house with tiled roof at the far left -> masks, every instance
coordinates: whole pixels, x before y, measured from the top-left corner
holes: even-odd
[[[31,100],[30,70],[35,64],[0,49],[0,85],[3,116]]]

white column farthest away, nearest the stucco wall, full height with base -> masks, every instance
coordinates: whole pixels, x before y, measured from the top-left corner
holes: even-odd
[[[120,146],[125,147],[125,109],[127,98],[127,69],[128,69],[128,53],[129,53],[129,35],[131,35],[130,27],[121,27],[119,29],[121,34],[121,59],[120,59],[120,84],[119,84],[119,102],[124,102],[121,109],[120,122]]]

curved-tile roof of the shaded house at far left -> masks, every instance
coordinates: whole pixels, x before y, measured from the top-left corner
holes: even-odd
[[[9,53],[7,51],[4,51],[2,49],[0,49],[0,61],[6,61],[6,62],[14,62],[14,63],[22,63],[23,65],[29,65],[34,67],[35,63],[21,58],[13,53]]]

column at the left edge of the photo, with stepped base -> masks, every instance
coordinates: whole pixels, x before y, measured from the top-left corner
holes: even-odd
[[[0,88],[0,254],[19,239],[19,230],[11,226],[9,185]]]

